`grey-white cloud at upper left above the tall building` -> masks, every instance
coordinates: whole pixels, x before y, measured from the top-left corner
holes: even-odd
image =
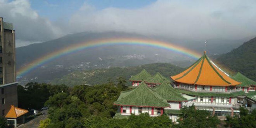
[[[19,44],[19,41],[36,43],[64,35],[61,28],[31,9],[28,0],[0,1],[0,16],[5,22],[14,24],[17,46],[23,44]]]

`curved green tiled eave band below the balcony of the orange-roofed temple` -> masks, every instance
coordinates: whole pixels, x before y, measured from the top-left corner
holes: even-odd
[[[245,95],[244,91],[233,92],[233,93],[204,93],[204,92],[191,92],[188,90],[178,89],[175,90],[179,93],[187,94],[187,95],[195,95],[195,96],[206,96],[206,97],[237,97],[239,95]]]

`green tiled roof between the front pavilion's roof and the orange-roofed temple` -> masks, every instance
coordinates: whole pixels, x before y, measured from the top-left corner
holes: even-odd
[[[161,95],[167,101],[181,102],[187,101],[180,93],[176,92],[168,81],[164,81],[161,85],[153,88],[157,94]]]

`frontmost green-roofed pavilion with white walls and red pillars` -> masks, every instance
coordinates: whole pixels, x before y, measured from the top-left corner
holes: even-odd
[[[121,92],[114,105],[120,106],[120,115],[135,115],[149,113],[150,116],[163,114],[165,107],[169,107],[167,100],[151,90],[144,81],[136,88]]]

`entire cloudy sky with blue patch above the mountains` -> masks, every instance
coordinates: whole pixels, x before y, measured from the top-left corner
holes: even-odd
[[[209,40],[256,35],[256,0],[0,0],[16,46],[79,32]]]

